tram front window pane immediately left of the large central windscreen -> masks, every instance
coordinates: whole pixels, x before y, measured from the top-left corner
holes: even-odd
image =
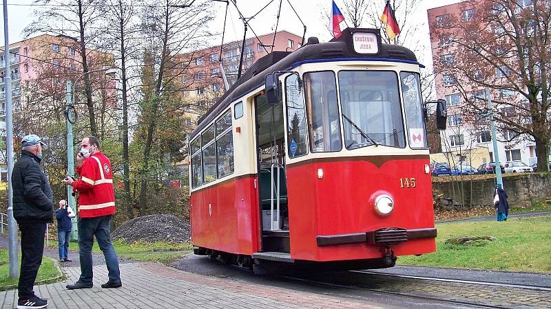
[[[340,151],[342,141],[335,73],[323,71],[304,74],[304,91],[311,151]]]

